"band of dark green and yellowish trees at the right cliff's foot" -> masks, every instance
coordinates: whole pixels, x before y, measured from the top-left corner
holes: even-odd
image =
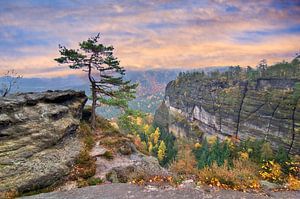
[[[193,150],[198,168],[210,167],[214,162],[217,166],[222,166],[225,162],[228,162],[228,165],[232,166],[234,159],[249,158],[252,162],[258,164],[275,160],[275,162],[281,165],[284,171],[288,169],[286,162],[290,162],[290,157],[282,147],[274,154],[270,143],[263,140],[248,139],[241,141],[237,145],[230,146],[231,144],[227,140],[220,142],[219,139],[209,144],[204,139],[202,146]]]

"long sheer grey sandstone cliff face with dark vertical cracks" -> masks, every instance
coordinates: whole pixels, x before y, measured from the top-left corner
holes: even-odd
[[[296,79],[235,81],[184,79],[170,82],[155,122],[177,137],[268,140],[300,153],[300,100]],[[203,134],[204,133],[204,134]]]

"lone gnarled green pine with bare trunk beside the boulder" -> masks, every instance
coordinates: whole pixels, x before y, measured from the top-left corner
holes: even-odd
[[[100,34],[97,34],[79,43],[79,49],[67,49],[60,45],[61,57],[55,59],[71,69],[87,72],[92,91],[93,128],[96,122],[96,107],[106,104],[124,110],[128,107],[128,101],[135,97],[137,87],[137,84],[124,80],[125,69],[113,55],[113,46],[105,46],[98,42],[99,39]]]

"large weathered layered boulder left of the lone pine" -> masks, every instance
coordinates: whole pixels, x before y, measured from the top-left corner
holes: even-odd
[[[42,188],[68,174],[86,101],[71,90],[0,98],[0,192]]]

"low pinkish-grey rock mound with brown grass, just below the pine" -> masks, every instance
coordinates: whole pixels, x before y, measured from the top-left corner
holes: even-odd
[[[132,137],[114,130],[105,133],[101,129],[96,137],[90,155],[96,159],[96,178],[113,183],[126,183],[152,176],[168,176],[166,169],[159,165],[157,158],[145,155],[137,150]]]

